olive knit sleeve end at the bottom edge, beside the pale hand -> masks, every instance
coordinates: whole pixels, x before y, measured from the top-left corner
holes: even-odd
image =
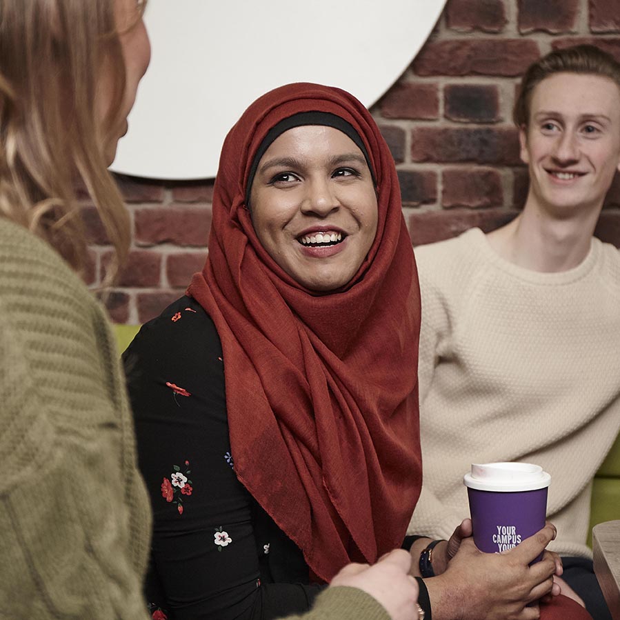
[[[309,612],[282,620],[390,620],[390,614],[363,590],[337,586],[321,592]]]

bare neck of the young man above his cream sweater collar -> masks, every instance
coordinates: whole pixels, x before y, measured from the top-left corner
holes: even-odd
[[[532,271],[561,272],[577,267],[588,256],[600,209],[582,210],[559,219],[535,208],[528,199],[523,212],[487,235],[501,257]]]

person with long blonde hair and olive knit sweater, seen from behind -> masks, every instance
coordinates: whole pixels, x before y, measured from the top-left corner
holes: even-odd
[[[135,0],[0,3],[0,617],[146,618],[150,510],[80,197],[128,251],[107,167],[150,59]],[[115,266],[116,265],[116,266]]]

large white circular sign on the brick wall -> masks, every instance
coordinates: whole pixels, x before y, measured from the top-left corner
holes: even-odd
[[[111,169],[215,176],[228,130],[290,82],[338,86],[372,106],[408,67],[445,0],[149,0],[151,63]]]

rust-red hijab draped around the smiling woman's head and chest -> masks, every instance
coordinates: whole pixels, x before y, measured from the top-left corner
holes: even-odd
[[[350,283],[329,294],[277,266],[245,203],[261,142],[299,112],[348,121],[377,181],[377,236]],[[209,256],[188,294],[221,339],[234,471],[314,575],[328,581],[399,547],[421,487],[420,296],[394,161],[357,99],[294,83],[243,113],[222,148]]]

